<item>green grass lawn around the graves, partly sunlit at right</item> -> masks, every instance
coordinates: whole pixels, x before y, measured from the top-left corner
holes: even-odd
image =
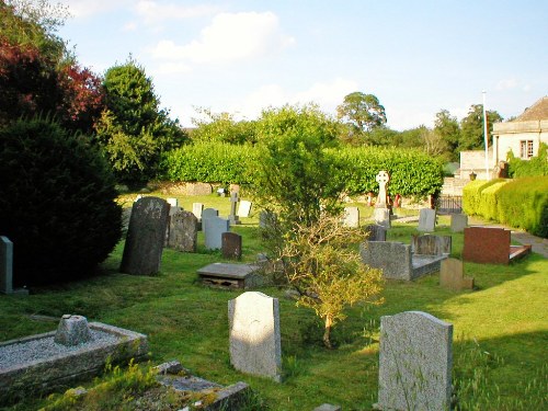
[[[225,216],[230,208],[228,197],[180,197],[185,209],[192,209],[193,202]],[[362,207],[364,222],[368,215],[370,210]],[[244,261],[262,251],[256,217],[254,210],[233,229],[243,236]],[[449,235],[448,224],[447,217],[439,217],[436,233]],[[409,242],[415,226],[393,224],[388,240]],[[460,256],[463,235],[452,236],[453,255]],[[279,298],[285,378],[276,384],[230,366],[227,301],[240,292],[198,284],[197,269],[222,261],[220,253],[204,250],[202,237],[198,241],[197,253],[164,250],[156,276],[118,273],[121,243],[104,262],[102,276],[36,288],[28,297],[0,296],[0,341],[57,326],[33,320],[32,315],[78,313],[147,334],[152,364],[179,359],[194,374],[222,385],[247,381],[263,401],[261,409],[312,410],[329,402],[343,410],[369,410],[377,399],[380,317],[420,310],[454,324],[454,384],[460,409],[548,409],[548,260],[538,254],[509,266],[466,263],[466,274],[476,281],[473,292],[443,289],[437,275],[387,282],[383,306],[353,307],[334,328],[332,351],[321,344],[322,324],[313,311],[297,308],[284,289],[263,288]],[[28,398],[2,410],[46,403],[47,399]]]

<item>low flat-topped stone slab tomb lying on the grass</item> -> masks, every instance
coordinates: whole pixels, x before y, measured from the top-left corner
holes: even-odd
[[[249,289],[264,284],[260,264],[213,263],[197,271],[202,284],[215,288]]]

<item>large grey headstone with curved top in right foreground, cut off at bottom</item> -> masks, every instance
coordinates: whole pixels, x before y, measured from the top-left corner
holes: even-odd
[[[378,406],[449,410],[453,324],[426,312],[380,318]]]

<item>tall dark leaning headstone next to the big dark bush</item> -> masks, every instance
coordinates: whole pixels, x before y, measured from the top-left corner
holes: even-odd
[[[119,271],[150,275],[160,271],[170,205],[162,198],[142,197],[134,203]]]

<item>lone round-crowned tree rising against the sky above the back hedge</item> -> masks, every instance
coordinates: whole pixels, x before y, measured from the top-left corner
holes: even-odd
[[[362,92],[350,93],[336,107],[340,119],[351,126],[351,132],[361,134],[386,124],[385,107],[373,94]]]

